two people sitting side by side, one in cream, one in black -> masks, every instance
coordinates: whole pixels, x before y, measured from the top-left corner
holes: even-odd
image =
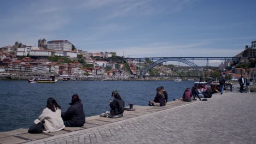
[[[28,129],[28,133],[45,133],[60,131],[65,127],[82,127],[85,123],[84,108],[78,94],[74,94],[66,112],[54,98],[48,98],[42,114]]]

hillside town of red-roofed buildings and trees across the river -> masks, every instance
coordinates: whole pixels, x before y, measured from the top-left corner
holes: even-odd
[[[256,40],[251,46],[246,45],[245,50],[235,57],[240,57],[239,62],[225,61],[218,68],[208,69],[210,76],[214,71],[219,71],[237,80],[241,75],[254,79]],[[28,46],[16,41],[14,45],[0,48],[0,74],[16,76],[97,76],[128,79],[139,74],[139,63],[136,61],[107,62],[96,58],[118,57],[115,52],[88,52],[78,50],[68,40],[39,39],[38,46]],[[170,67],[168,67],[170,66]],[[146,75],[173,76],[177,69],[182,75],[189,76],[193,70],[179,65],[156,65]],[[179,75],[181,75],[179,74]],[[192,75],[191,75],[192,76]],[[201,77],[207,77],[201,75]]]

